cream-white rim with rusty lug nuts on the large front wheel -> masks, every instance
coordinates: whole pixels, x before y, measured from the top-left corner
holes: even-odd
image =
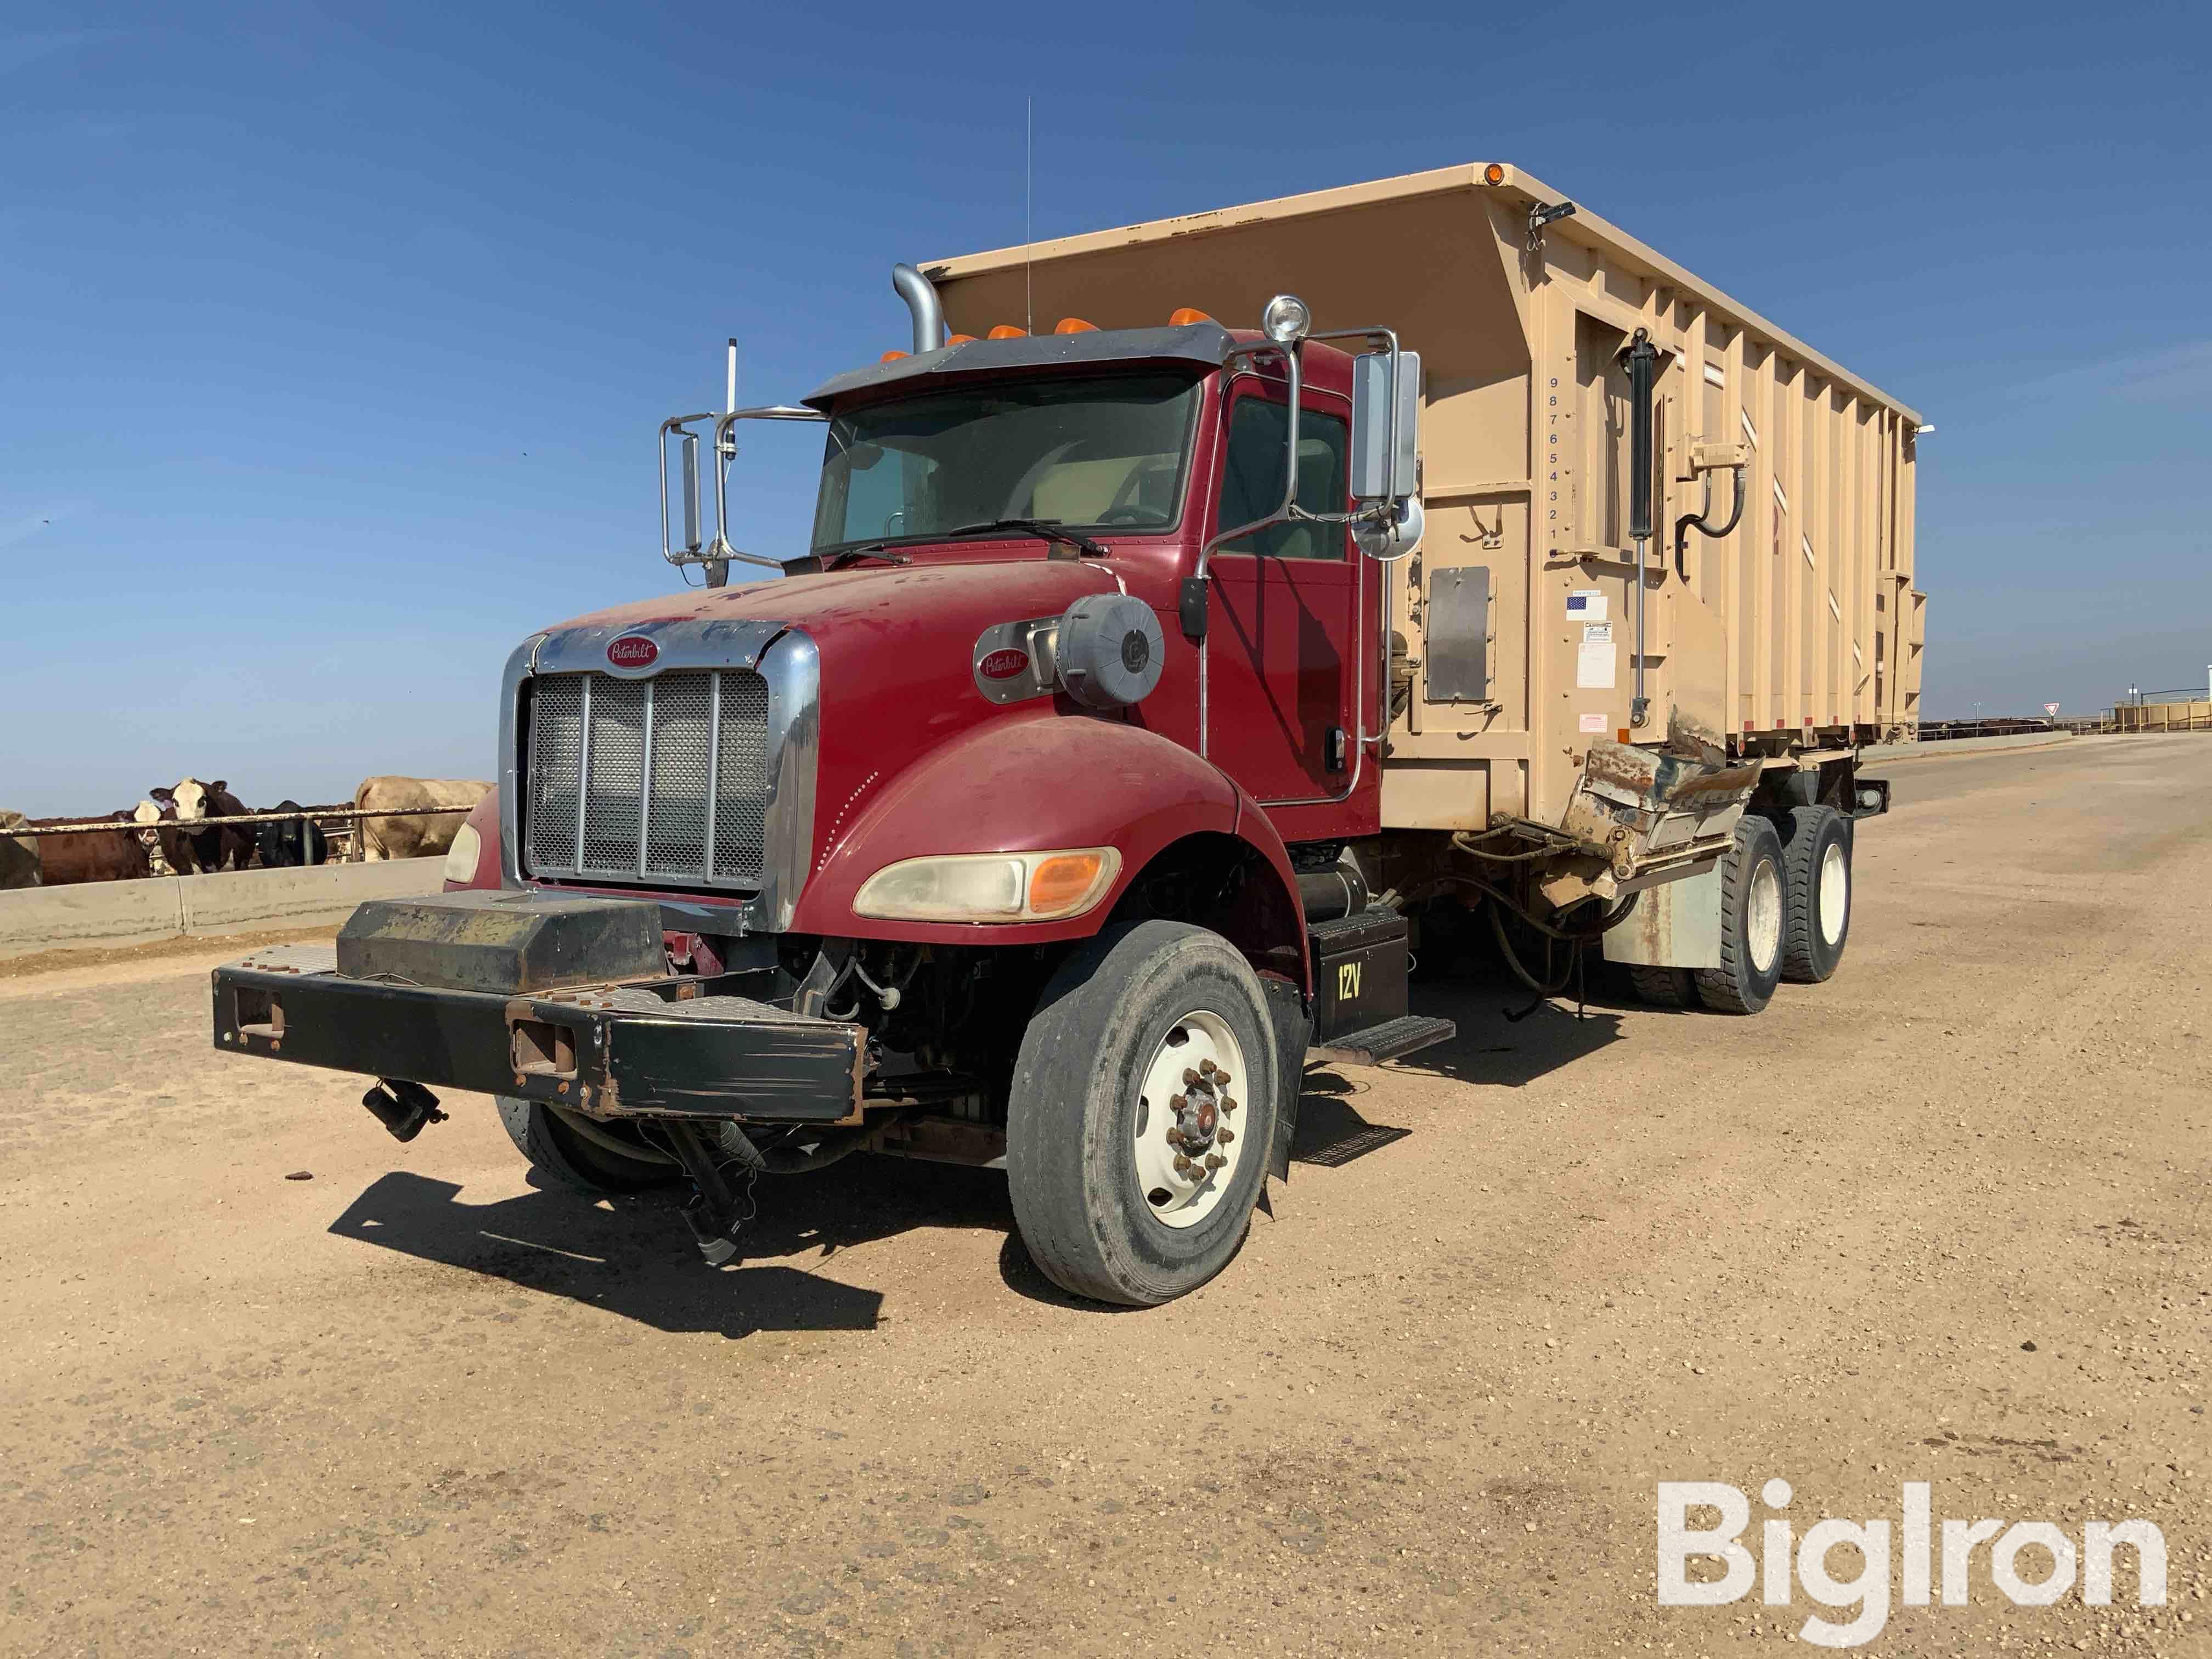
[[[1245,1150],[1245,1055],[1219,1013],[1194,1009],[1168,1026],[1137,1097],[1137,1192],[1170,1228],[1194,1228],[1237,1181]],[[1181,1168],[1177,1168],[1181,1166]]]

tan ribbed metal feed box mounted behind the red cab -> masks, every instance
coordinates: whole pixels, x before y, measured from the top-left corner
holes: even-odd
[[[1394,827],[1557,823],[1588,739],[1628,728],[1617,354],[1637,327],[1661,361],[1652,723],[1632,741],[1679,719],[1739,752],[1820,752],[1920,721],[1920,416],[1588,210],[1531,232],[1531,208],[1564,199],[1475,164],[925,265],[962,334],[1026,314],[1040,332],[1144,327],[1183,305],[1252,327],[1292,292],[1314,327],[1396,327],[1422,354],[1427,533],[1385,586],[1413,659],[1383,781]],[[1725,522],[1732,476],[1741,522],[1692,531],[1683,575],[1674,522],[1705,507],[1708,480]]]

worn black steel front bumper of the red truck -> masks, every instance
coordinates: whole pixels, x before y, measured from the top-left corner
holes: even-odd
[[[447,991],[338,973],[330,945],[215,969],[215,1046],[597,1119],[858,1124],[867,1031],[697,982]]]

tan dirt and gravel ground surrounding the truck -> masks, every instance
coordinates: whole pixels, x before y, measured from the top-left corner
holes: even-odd
[[[2163,1528],[2170,1604],[1880,1652],[2212,1652],[2212,739],[1909,761],[1756,1020],[1429,984],[1310,1073],[1241,1259],[1073,1305],[991,1172],[763,1181],[741,1267],[478,1097],[219,1055],[212,947],[0,982],[11,1652],[1752,1652],[1655,1484]],[[307,1172],[312,1179],[288,1179]],[[2039,1577],[2035,1551],[2022,1575]],[[1849,1551],[1834,1557],[1849,1573]],[[1834,1617],[1847,1617],[1836,1613]]]

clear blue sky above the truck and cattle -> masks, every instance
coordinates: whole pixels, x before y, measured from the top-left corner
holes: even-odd
[[[2197,9],[102,7],[0,29],[0,805],[487,776],[672,586],[664,414],[905,338],[894,259],[1517,161],[1896,392],[1931,714],[2212,659]],[[796,549],[818,436],[737,480]]]

